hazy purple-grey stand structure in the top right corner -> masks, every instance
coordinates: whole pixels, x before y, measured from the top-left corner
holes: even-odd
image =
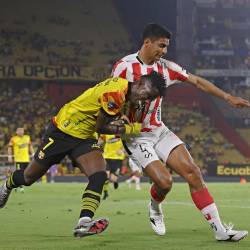
[[[195,2],[195,66],[201,69],[250,69],[250,2]]]

